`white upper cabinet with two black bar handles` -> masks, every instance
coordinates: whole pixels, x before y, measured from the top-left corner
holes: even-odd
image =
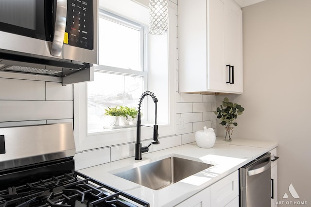
[[[242,93],[242,10],[233,0],[178,1],[178,90]]]

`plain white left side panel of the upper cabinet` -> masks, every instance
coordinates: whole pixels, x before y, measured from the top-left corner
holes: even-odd
[[[207,1],[178,2],[178,90],[207,89]]]

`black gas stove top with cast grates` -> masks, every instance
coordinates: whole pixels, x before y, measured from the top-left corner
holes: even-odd
[[[0,207],[149,207],[78,172],[0,189]]]

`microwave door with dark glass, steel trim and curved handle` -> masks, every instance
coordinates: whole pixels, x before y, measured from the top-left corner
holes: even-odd
[[[0,0],[0,50],[62,58],[67,0]]]

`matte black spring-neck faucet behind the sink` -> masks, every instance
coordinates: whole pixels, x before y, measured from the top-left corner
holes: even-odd
[[[141,119],[140,119],[140,107],[141,107],[141,102],[146,96],[151,96],[152,100],[155,103],[155,125],[154,125],[154,137],[151,143],[147,147],[141,147],[140,143],[140,126],[141,126]],[[158,134],[158,125],[156,125],[156,103],[157,103],[157,98],[155,97],[155,94],[151,91],[146,91],[144,92],[139,99],[139,104],[138,104],[138,113],[137,113],[137,134],[136,134],[136,144],[135,144],[135,159],[140,160],[141,159],[141,153],[146,153],[149,151],[149,147],[151,144],[159,144],[159,134]]]

